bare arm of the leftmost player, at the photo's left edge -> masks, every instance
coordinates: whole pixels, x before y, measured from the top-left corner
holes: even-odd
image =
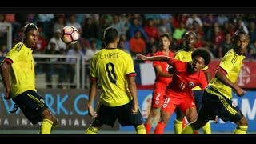
[[[9,80],[9,74],[10,74],[10,64],[12,61],[9,58],[6,58],[1,63],[1,77],[2,82],[4,86],[6,87],[6,95],[5,99],[10,99],[10,80]]]

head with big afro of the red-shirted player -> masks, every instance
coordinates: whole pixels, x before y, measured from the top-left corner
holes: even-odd
[[[192,69],[194,71],[201,70],[203,67],[208,66],[210,63],[210,53],[203,49],[198,48],[192,53]]]

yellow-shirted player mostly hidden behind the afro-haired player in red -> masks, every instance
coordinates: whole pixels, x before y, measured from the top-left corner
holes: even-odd
[[[193,31],[187,31],[184,35],[185,48],[182,48],[182,50],[178,50],[174,58],[183,62],[192,62],[191,54],[195,50],[194,45],[197,41],[196,37],[197,36]],[[208,72],[208,66],[205,66],[202,71],[206,75],[207,82],[209,82],[210,76]],[[202,89],[199,86],[194,87],[193,96],[195,106],[197,108],[197,111],[199,111],[202,105]],[[179,109],[176,109],[175,112],[176,120],[174,122],[174,134],[181,134],[183,129],[182,121],[184,121],[184,114],[182,114],[181,110]],[[206,123],[206,126],[203,126],[202,130],[204,134],[211,134],[210,123]],[[198,131],[195,134],[198,134]]]

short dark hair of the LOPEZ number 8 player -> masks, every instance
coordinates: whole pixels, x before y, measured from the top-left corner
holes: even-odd
[[[113,26],[109,26],[104,30],[102,40],[107,43],[114,42],[117,38],[119,38],[118,30]]]

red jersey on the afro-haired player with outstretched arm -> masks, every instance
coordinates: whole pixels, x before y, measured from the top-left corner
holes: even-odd
[[[174,67],[174,76],[172,82],[167,87],[169,94],[178,97],[192,97],[192,88],[200,86],[202,90],[205,90],[207,86],[207,80],[204,72],[199,70],[194,74],[188,74],[190,66],[189,62],[182,62],[174,58],[170,58],[168,61],[170,66]]]

